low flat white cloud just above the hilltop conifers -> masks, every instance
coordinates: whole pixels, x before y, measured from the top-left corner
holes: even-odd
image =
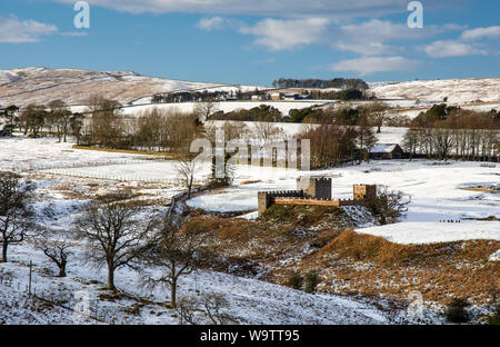
[[[331,66],[331,70],[366,76],[374,72],[413,71],[419,65],[419,61],[403,57],[368,57],[339,61]]]

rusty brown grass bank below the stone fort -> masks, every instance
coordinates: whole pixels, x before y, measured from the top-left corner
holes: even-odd
[[[426,300],[447,304],[462,297],[484,304],[500,290],[500,264],[488,261],[499,241],[399,245],[334,224],[340,210],[308,211],[279,206],[258,220],[197,218],[211,237],[213,252],[257,261],[271,269],[269,280],[282,285],[294,271],[317,270],[320,290],[400,300],[420,290]]]

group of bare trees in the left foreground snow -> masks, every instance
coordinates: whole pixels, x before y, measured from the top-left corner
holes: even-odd
[[[116,289],[116,270],[130,267],[143,274],[146,287],[169,286],[171,306],[176,307],[179,277],[193,271],[201,257],[210,256],[207,238],[197,222],[144,214],[144,208],[127,191],[86,204],[70,230],[43,229],[34,220],[33,190],[34,186],[21,176],[0,172],[2,262],[8,261],[10,245],[30,239],[57,265],[58,276],[64,277],[74,244],[84,241],[86,260],[107,269],[108,289]],[[161,275],[144,271],[144,265],[160,269]]]

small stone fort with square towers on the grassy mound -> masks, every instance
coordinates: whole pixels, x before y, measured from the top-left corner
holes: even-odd
[[[332,199],[331,178],[311,176],[297,179],[297,190],[259,191],[259,216],[272,205],[357,206],[377,197],[377,185],[353,185],[352,199]]]

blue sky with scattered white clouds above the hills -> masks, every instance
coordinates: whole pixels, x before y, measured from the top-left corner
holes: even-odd
[[[1,0],[0,69],[261,86],[500,77],[499,0],[82,2]]]

